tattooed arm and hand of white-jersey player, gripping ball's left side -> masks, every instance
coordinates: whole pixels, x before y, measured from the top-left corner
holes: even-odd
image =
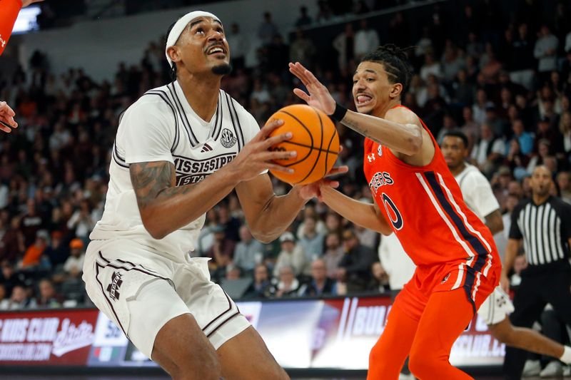
[[[291,137],[282,134],[268,138],[282,123],[282,120],[268,123],[231,163],[196,185],[176,186],[175,167],[168,161],[131,163],[131,183],[148,233],[162,239],[210,210],[239,183],[252,180],[269,168],[289,170],[273,164],[272,160],[291,158],[291,152],[268,150]]]

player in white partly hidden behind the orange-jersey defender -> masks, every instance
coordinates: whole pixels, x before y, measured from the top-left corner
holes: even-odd
[[[465,162],[468,157],[466,135],[460,131],[446,133],[440,149],[450,172],[458,181],[466,205],[485,222],[492,235],[502,231],[504,225],[500,205],[490,183],[480,170]],[[513,311],[510,297],[507,297],[501,287],[496,287],[477,312],[484,319],[492,336],[500,342],[537,354],[553,356],[571,364],[571,347],[563,346],[533,329],[514,327],[507,317],[507,314]]]

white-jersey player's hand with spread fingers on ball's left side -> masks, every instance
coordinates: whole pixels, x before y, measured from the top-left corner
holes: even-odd
[[[264,170],[277,170],[285,173],[293,173],[293,169],[278,165],[273,160],[286,160],[295,158],[298,153],[295,150],[271,151],[271,146],[289,140],[292,133],[282,133],[269,137],[273,130],[281,127],[283,120],[270,120],[261,128],[260,132],[254,136],[249,143],[244,145],[242,151],[234,158],[234,160],[226,165],[234,170],[239,180],[246,181],[256,178]]]

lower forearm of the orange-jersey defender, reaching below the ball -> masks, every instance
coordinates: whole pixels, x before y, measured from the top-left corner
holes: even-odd
[[[383,235],[393,233],[393,229],[376,203],[354,200],[328,185],[320,187],[320,200],[323,200],[332,210],[355,223],[355,225],[380,232]]]

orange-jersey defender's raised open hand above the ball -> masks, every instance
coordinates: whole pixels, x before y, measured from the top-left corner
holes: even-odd
[[[294,88],[293,93],[301,98],[308,105],[317,108],[325,112],[326,115],[333,115],[335,111],[335,99],[329,93],[327,87],[315,78],[313,73],[299,62],[289,64],[290,73],[297,76],[298,79],[303,83],[303,86],[307,88],[308,93],[305,93],[300,88]]]

